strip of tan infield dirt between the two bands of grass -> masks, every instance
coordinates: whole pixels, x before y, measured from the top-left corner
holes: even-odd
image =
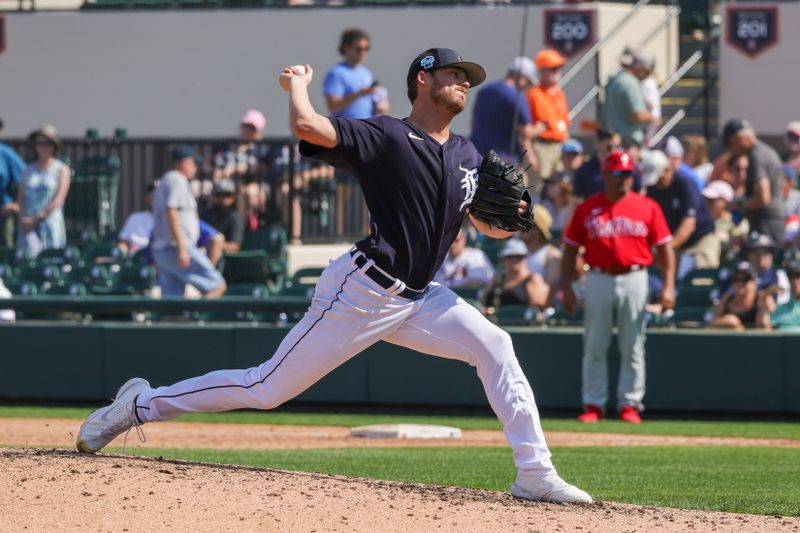
[[[49,418],[0,418],[0,444],[6,446],[56,446],[70,448],[81,420]],[[459,439],[365,439],[351,437],[338,426],[289,426],[268,424],[200,424],[165,422],[144,426],[148,442],[140,443],[134,432],[126,446],[132,448],[197,449],[301,449],[411,446],[506,446],[501,431],[467,430]],[[797,439],[733,437],[685,437],[672,435],[623,435],[548,431],[550,446],[772,446],[800,448]],[[121,448],[123,439],[111,446]]]

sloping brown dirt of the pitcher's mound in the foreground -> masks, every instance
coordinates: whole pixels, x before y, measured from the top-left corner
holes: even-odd
[[[800,531],[800,519],[63,450],[0,450],[4,531]]]

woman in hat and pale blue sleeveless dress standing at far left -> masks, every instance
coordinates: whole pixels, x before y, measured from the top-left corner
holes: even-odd
[[[71,171],[56,159],[62,144],[54,126],[46,124],[34,130],[28,140],[33,145],[36,161],[25,168],[20,178],[17,249],[36,257],[42,250],[67,245],[63,206]]]

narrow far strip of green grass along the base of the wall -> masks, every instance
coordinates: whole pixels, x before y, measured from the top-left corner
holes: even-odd
[[[0,406],[0,418],[85,418],[88,407],[25,407]],[[488,416],[428,416],[394,414],[334,414],[235,411],[230,413],[184,415],[176,422],[208,422],[230,424],[297,424],[309,426],[361,426],[366,424],[443,424],[461,429],[501,429],[500,422]],[[606,420],[587,425],[573,418],[545,418],[545,431],[578,431],[595,433],[628,433],[637,435],[689,435],[708,437],[754,437],[770,439],[800,439],[800,423],[742,422],[706,420],[647,420],[635,426]]]

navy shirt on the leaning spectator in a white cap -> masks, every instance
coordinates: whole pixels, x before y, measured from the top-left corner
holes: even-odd
[[[667,226],[673,234],[684,218],[697,218],[694,233],[684,246],[691,246],[714,231],[714,219],[711,218],[705,198],[697,191],[691,176],[676,171],[669,187],[666,189],[649,187],[647,196],[661,206],[667,219]]]

